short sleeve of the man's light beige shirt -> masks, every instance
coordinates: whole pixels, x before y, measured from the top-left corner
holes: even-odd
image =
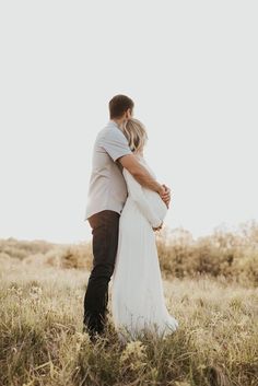
[[[126,136],[119,129],[110,129],[103,138],[102,147],[114,162],[122,155],[132,154]]]

